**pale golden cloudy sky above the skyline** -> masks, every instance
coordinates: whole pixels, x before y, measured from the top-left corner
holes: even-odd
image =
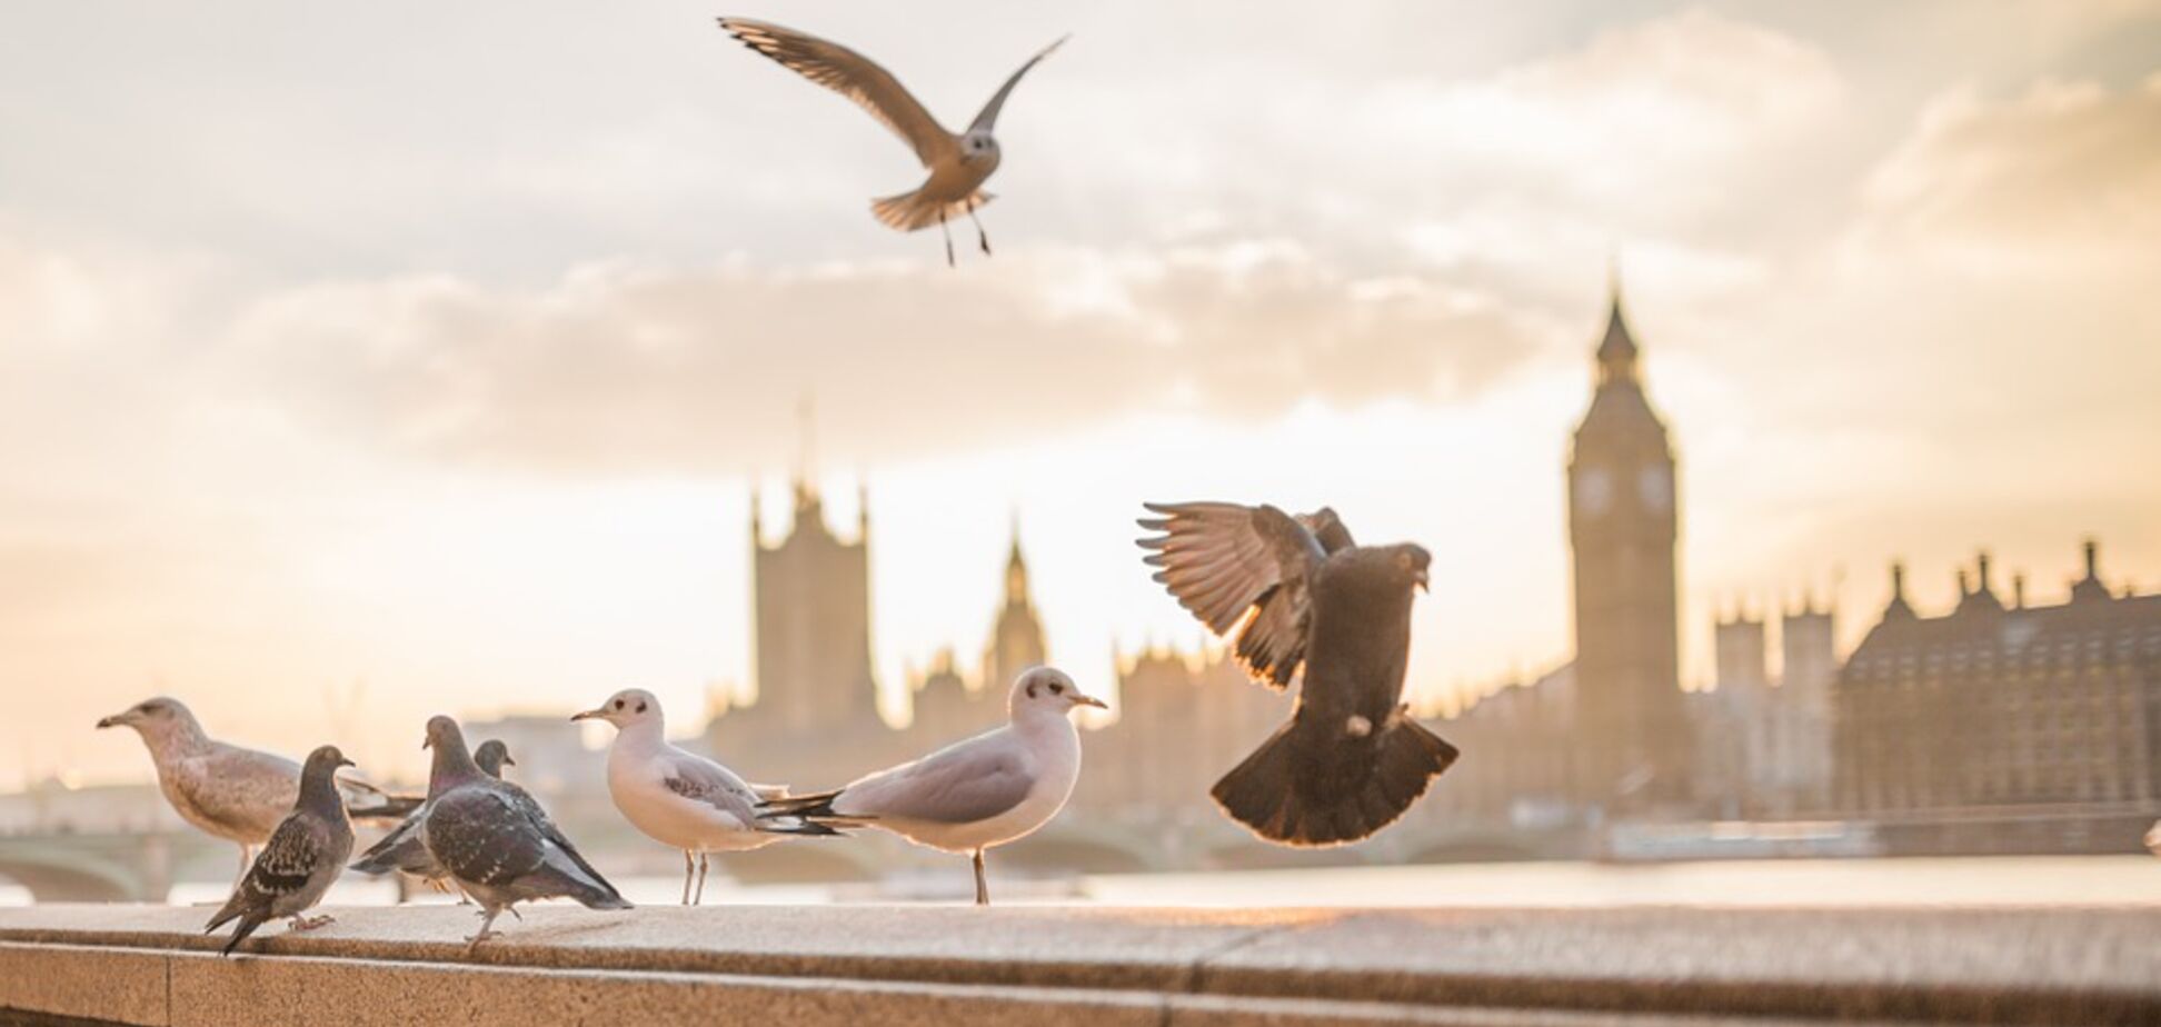
[[[1569,653],[1560,467],[1619,255],[1716,608],[1990,547],[2161,584],[2161,4],[810,4],[905,147],[683,2],[0,9],[0,787],[147,776],[151,692],[417,765],[449,709],[748,679],[748,504],[869,482],[888,683],[990,625],[1193,644],[1143,497],[1415,538],[1428,698]],[[1997,582],[1999,588],[2005,582]],[[361,716],[333,694],[363,688]]]

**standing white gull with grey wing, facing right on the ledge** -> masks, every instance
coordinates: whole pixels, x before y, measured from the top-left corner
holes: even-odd
[[[1080,733],[1065,716],[1074,707],[1102,709],[1102,701],[1080,694],[1063,670],[1022,670],[1005,698],[1005,726],[838,791],[765,802],[763,815],[884,828],[916,845],[966,852],[975,904],[990,906],[983,850],[1050,824],[1080,778]]]

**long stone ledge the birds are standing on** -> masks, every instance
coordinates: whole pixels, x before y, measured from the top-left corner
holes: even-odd
[[[2161,1023],[2161,910],[348,908],[216,958],[207,908],[0,910],[0,1010],[138,1025]],[[875,1016],[873,1016],[875,1014]],[[4,1014],[0,1014],[4,1021]],[[320,1018],[316,1021],[320,1023]]]

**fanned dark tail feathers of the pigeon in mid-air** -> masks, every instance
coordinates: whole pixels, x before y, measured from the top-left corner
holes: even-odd
[[[1409,713],[1398,711],[1379,733],[1297,716],[1210,796],[1277,845],[1348,845],[1402,817],[1454,761],[1457,748]]]

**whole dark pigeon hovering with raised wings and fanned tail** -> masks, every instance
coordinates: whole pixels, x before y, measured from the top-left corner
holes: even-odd
[[[1431,556],[1357,545],[1333,510],[1145,504],[1141,538],[1156,582],[1269,688],[1303,668],[1299,705],[1210,796],[1281,845],[1344,845],[1400,817],[1457,761],[1457,748],[1402,705],[1411,590]],[[1240,629],[1243,625],[1243,629]]]

